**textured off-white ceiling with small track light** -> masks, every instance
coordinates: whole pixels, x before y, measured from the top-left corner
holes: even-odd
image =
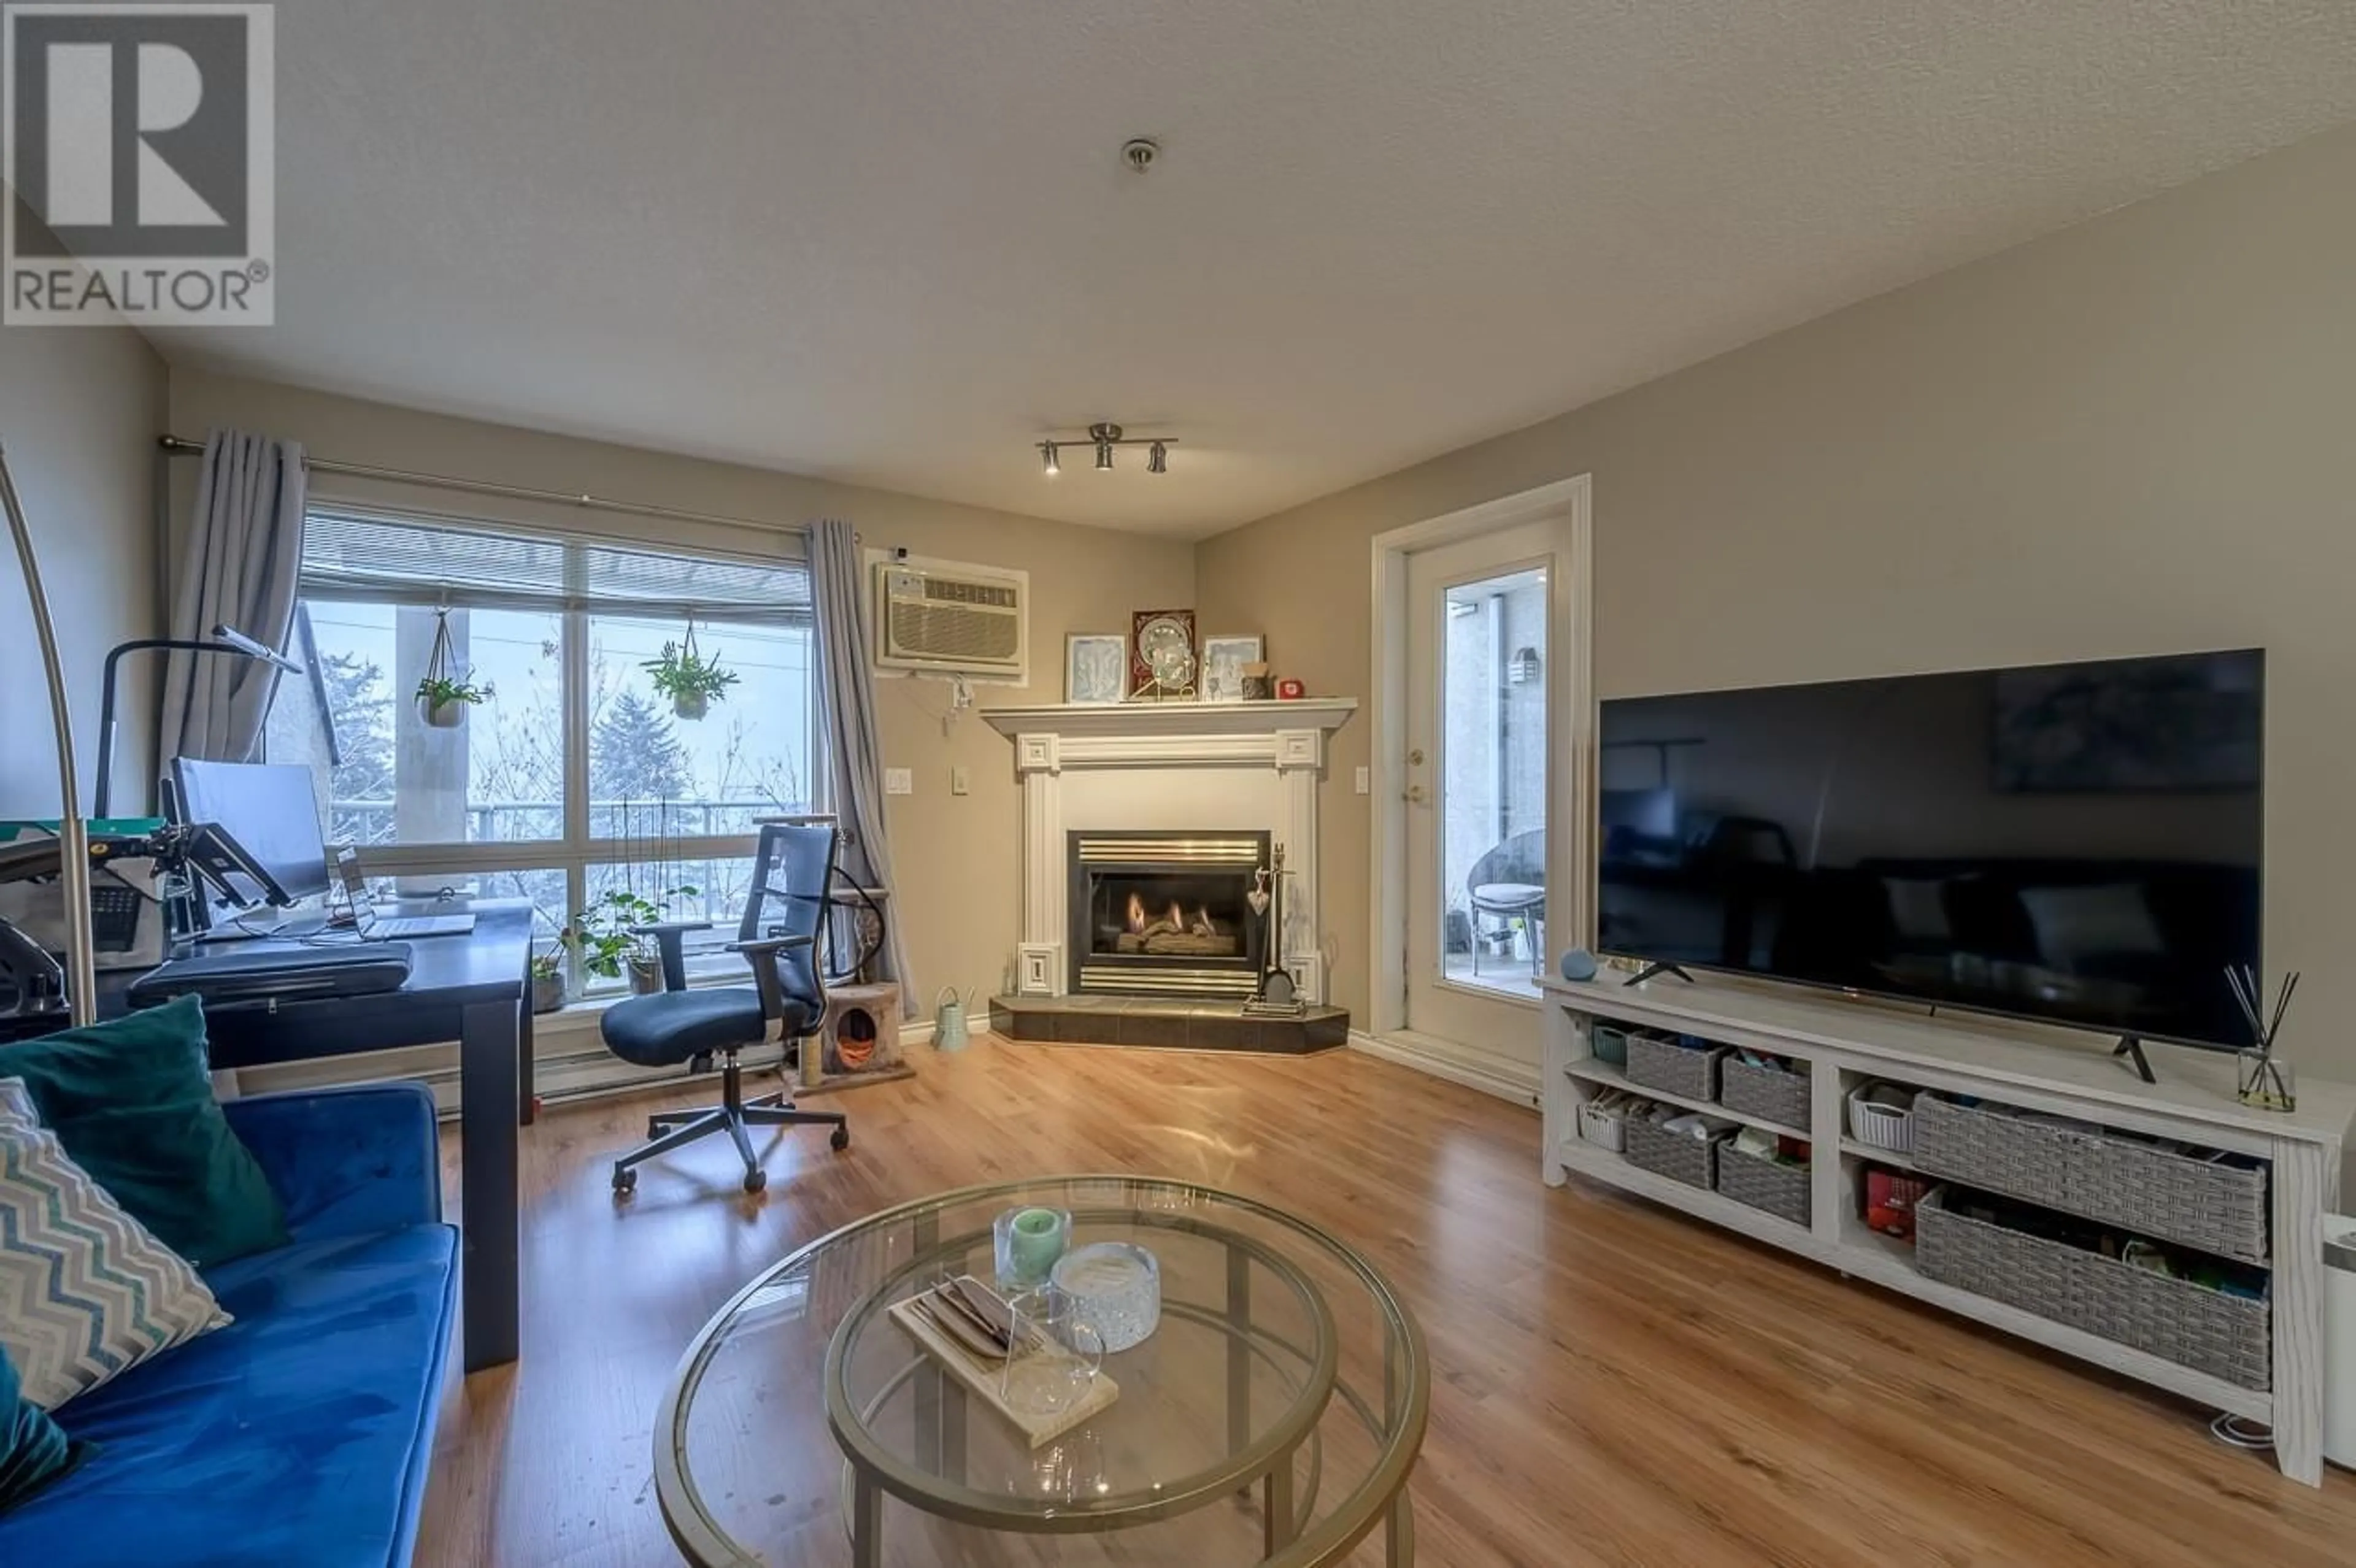
[[[2356,118],[2347,0],[285,0],[278,49],[278,325],[174,360],[1169,534]],[[1091,419],[1185,445],[1044,480]]]

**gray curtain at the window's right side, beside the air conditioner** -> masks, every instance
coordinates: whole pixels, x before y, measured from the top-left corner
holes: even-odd
[[[818,678],[827,706],[827,765],[834,817],[841,824],[836,852],[848,876],[869,888],[893,888],[891,838],[884,831],[884,737],[876,730],[876,683],[867,669],[865,593],[860,591],[860,539],[848,523],[810,527],[810,598],[818,605]],[[916,1015],[916,979],[907,968],[898,899],[884,904],[884,954],[879,970],[900,982],[900,1008]]]

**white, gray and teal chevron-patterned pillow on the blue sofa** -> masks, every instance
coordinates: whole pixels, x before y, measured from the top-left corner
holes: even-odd
[[[224,1323],[196,1269],[66,1158],[24,1078],[0,1078],[0,1347],[24,1396],[54,1410]]]

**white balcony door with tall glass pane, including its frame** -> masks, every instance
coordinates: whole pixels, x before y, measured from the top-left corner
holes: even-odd
[[[1536,1088],[1541,991],[1586,944],[1586,480],[1376,542],[1371,1034]]]

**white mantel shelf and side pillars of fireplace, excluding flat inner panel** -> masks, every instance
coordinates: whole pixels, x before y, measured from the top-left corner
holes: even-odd
[[[1350,723],[1355,711],[1357,702],[1345,697],[985,709],[982,720],[1015,744],[1015,775],[1023,782],[1023,935],[1015,946],[1020,994],[1063,996],[1072,979],[1065,954],[1070,775],[1183,770],[1204,775],[1204,789],[1216,791],[1223,775],[1251,770],[1275,772],[1279,784],[1279,805],[1265,826],[1284,848],[1291,873],[1284,888],[1282,963],[1293,972],[1298,991],[1322,1003],[1326,961],[1317,906],[1317,786],[1324,777],[1326,735]],[[1263,822],[1223,826],[1258,829]]]

